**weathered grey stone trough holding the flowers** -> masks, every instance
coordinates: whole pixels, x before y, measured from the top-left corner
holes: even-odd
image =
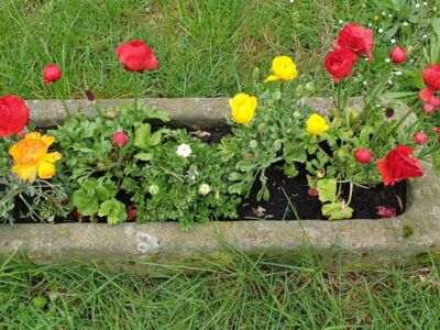
[[[70,109],[94,111],[94,107],[127,103],[105,100],[97,105],[69,101]],[[143,103],[168,110],[173,120],[189,127],[221,123],[229,112],[226,99],[145,99]],[[307,101],[320,112],[328,99]],[[64,118],[58,101],[29,101],[32,119],[41,127]],[[404,215],[384,220],[343,221],[222,221],[183,232],[176,222],[146,224],[65,223],[1,224],[0,255],[24,254],[36,264],[70,264],[85,261],[113,271],[164,273],[204,266],[209,262],[231,262],[224,242],[249,255],[285,258],[310,246],[329,265],[346,270],[384,264],[417,263],[428,253],[440,258],[440,186],[433,169],[424,164],[425,176],[411,180]],[[411,233],[411,234],[408,234]],[[290,258],[292,260],[292,258]],[[164,266],[165,265],[165,266]],[[167,265],[174,265],[169,267]]]

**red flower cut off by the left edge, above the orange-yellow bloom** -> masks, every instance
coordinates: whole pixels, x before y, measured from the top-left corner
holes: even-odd
[[[0,136],[22,132],[28,122],[29,109],[23,99],[13,95],[0,98]]]

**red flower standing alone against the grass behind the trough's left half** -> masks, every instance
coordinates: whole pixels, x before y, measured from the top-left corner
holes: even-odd
[[[141,41],[121,44],[116,53],[128,72],[154,70],[158,67],[153,51]]]

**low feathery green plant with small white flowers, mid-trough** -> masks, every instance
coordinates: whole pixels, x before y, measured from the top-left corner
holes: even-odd
[[[177,155],[180,144],[189,157]],[[132,196],[138,221],[177,220],[188,230],[195,222],[238,217],[240,199],[228,194],[230,168],[221,163],[216,145],[190,138],[185,130],[169,131],[164,143],[152,147],[154,157],[125,168],[122,188]],[[204,195],[200,186],[208,185]]]

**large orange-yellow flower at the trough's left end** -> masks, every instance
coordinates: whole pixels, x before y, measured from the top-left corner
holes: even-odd
[[[62,158],[61,153],[47,153],[54,138],[33,132],[26,134],[24,140],[9,148],[9,154],[14,161],[12,172],[22,180],[34,182],[36,174],[43,179],[55,175],[53,163]]]

